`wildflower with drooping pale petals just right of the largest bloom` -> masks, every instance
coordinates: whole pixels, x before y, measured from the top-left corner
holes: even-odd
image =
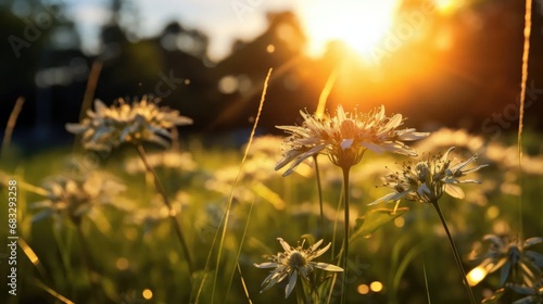
[[[392,173],[384,177],[384,186],[394,189],[394,192],[376,200],[369,205],[381,202],[395,202],[403,198],[409,201],[432,203],[441,198],[443,191],[453,198],[463,199],[465,195],[464,191],[455,185],[481,183],[481,181],[476,179],[460,180],[459,178],[487,165],[467,168],[467,166],[477,160],[477,155],[471,156],[465,162],[452,165],[449,154],[453,150],[454,147],[450,148],[443,156],[432,156],[416,165],[413,165],[411,162],[404,163],[402,172]]]

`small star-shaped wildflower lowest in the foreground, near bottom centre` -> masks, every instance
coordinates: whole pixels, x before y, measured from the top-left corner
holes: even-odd
[[[323,262],[313,262],[313,259],[323,255],[330,248],[331,243],[328,243],[325,248],[317,250],[323,243],[323,240],[316,242],[308,249],[303,249],[303,242],[301,245],[292,248],[283,241],[283,239],[277,238],[277,240],[281,244],[285,252],[280,252],[277,255],[268,257],[272,262],[254,264],[254,266],[258,268],[275,268],[262,282],[262,286],[267,286],[261,292],[268,290],[288,277],[289,283],[285,289],[285,297],[287,299],[292,290],[294,290],[299,276],[303,280],[308,281],[310,275],[315,268],[327,271],[343,271],[341,267],[334,265]]]

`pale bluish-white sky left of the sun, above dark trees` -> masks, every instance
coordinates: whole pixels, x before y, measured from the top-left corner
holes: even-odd
[[[195,28],[210,39],[209,55],[220,60],[236,39],[250,40],[266,29],[265,13],[299,10],[307,0],[132,0],[139,38],[154,36],[172,21]],[[98,50],[99,28],[111,18],[108,0],[64,0],[67,16],[77,22],[86,52]],[[122,22],[130,22],[123,18]]]

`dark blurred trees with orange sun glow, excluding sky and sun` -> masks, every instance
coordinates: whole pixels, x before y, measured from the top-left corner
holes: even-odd
[[[399,20],[420,13],[428,2],[402,1]],[[70,3],[5,0],[0,2],[0,37],[8,41],[0,46],[5,59],[0,72],[0,122],[23,96],[27,102],[14,140],[27,148],[25,152],[66,143],[70,138],[63,126],[79,117],[91,76],[98,77],[93,97],[106,103],[151,93],[192,117],[195,124],[190,131],[210,135],[245,129],[251,126],[266,72],[274,67],[267,96],[274,106],[261,119],[261,127],[270,132],[275,125],[294,122],[300,109],[315,109],[327,78],[337,71],[329,96],[332,107],[384,104],[408,116],[419,129],[463,127],[500,136],[517,121],[507,111],[518,100],[522,2],[466,1],[451,14],[427,15],[420,37],[402,43],[375,68],[358,62],[341,41],[330,42],[320,58],[306,55],[312,37],[292,12],[264,12],[267,28],[252,40],[237,40],[226,58],[214,62],[207,56],[211,38],[202,29],[187,27],[182,20],[165,23],[153,37],[140,37],[144,23],[139,17],[147,12],[132,1],[112,0],[100,7],[105,12],[103,26],[97,28],[97,50],[89,53],[81,49],[88,37],[81,37],[77,20],[70,15]],[[45,13],[51,24],[40,27],[38,16]],[[541,112],[536,101],[541,99],[543,31],[536,29],[542,20],[534,8],[530,111],[525,119],[536,129],[541,119],[532,113]],[[329,22],[333,21],[323,21]],[[25,33],[34,33],[29,28],[39,34],[26,38]],[[10,37],[26,41],[18,56]],[[435,47],[437,37],[451,38],[452,49]],[[102,64],[99,75],[89,74],[94,63]],[[504,116],[513,118],[503,121]]]

